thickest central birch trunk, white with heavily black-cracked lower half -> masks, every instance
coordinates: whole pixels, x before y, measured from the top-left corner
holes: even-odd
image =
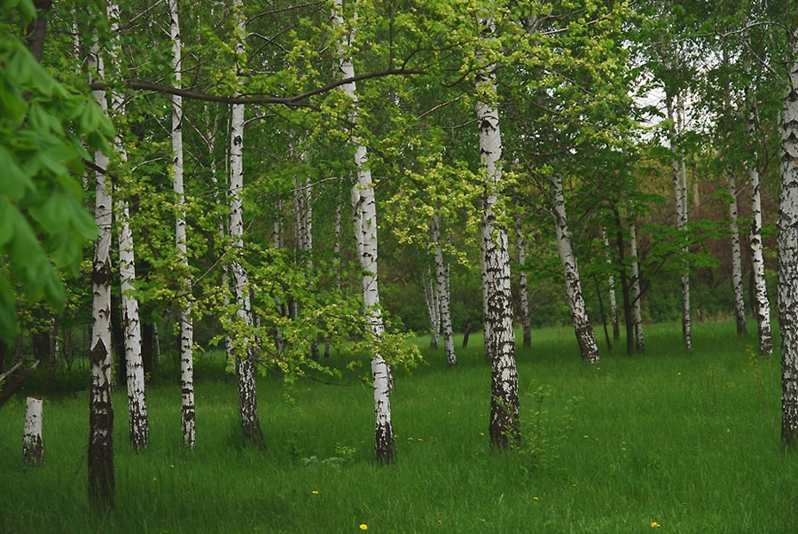
[[[496,31],[493,18],[481,20],[486,39]],[[510,250],[507,229],[497,224],[498,191],[502,181],[502,136],[496,105],[496,65],[476,76],[476,118],[480,159],[485,180],[482,208],[482,284],[485,302],[485,355],[490,362],[490,444],[507,449],[520,441],[518,371],[515,364],[515,333],[512,328]]]

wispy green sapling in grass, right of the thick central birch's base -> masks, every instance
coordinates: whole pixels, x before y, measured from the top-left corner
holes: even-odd
[[[568,433],[574,428],[575,412],[582,397],[569,398],[558,418],[552,415],[547,404],[547,399],[552,397],[551,387],[533,381],[529,389],[531,393],[527,396],[532,400],[532,409],[528,419],[531,428],[527,430],[527,440],[516,443],[520,455],[527,459],[523,469],[532,473],[540,467],[551,467],[559,459]]]

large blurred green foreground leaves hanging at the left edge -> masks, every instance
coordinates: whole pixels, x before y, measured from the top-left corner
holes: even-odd
[[[4,20],[27,24],[29,0],[0,1]],[[113,126],[98,106],[35,60],[15,31],[0,25],[0,339],[16,332],[14,293],[54,308],[66,298],[61,272],[76,274],[86,240],[97,236],[75,178],[90,149],[109,153]]]

